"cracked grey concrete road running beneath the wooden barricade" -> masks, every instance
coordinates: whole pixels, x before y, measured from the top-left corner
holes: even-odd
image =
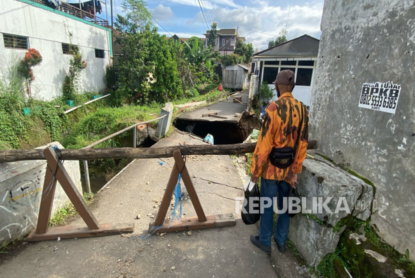
[[[175,130],[156,145],[179,142],[201,139]],[[249,235],[257,226],[243,224],[239,215],[236,226],[137,239],[153,220],[147,214],[158,210],[173,166],[172,158],[162,159],[164,166],[159,160],[131,162],[90,206],[101,223],[134,222],[134,234],[19,243],[0,254],[0,277],[303,277],[303,267],[290,252],[269,256],[253,246]],[[234,199],[243,195],[243,181],[228,155],[189,156],[186,165],[205,214],[235,213]],[[184,217],[195,216],[188,197],[182,207]],[[137,214],[140,219],[134,219]],[[81,223],[75,217],[69,224]]]

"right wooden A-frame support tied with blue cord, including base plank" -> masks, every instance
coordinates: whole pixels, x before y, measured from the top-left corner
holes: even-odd
[[[181,157],[180,151],[177,149],[173,152],[174,165],[168,179],[167,187],[164,191],[163,199],[161,200],[160,207],[155,217],[154,222],[150,222],[149,231],[154,231],[158,226],[161,228],[157,229],[156,232],[169,232],[178,230],[189,230],[189,229],[201,229],[211,228],[219,226],[230,226],[236,225],[235,217],[233,213],[217,214],[217,215],[204,215],[203,208],[201,207],[199,198],[196,191],[194,190],[193,182],[191,181],[190,175],[184,164],[184,160]],[[193,204],[194,210],[196,211],[197,217],[182,218],[181,222],[172,222],[169,219],[165,219],[168,207],[170,206],[171,195],[173,194],[174,188],[177,184],[179,169],[183,169],[181,172],[181,178],[183,179],[184,186],[187,189],[191,203]]]

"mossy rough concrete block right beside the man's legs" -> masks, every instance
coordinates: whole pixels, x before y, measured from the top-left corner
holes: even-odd
[[[307,263],[317,266],[337,246],[345,228],[338,226],[339,221],[350,216],[366,220],[370,216],[373,187],[321,156],[313,157],[304,160],[298,175],[298,192],[304,198],[301,200],[303,213],[291,218],[288,237]],[[327,198],[330,199],[326,206],[332,213],[323,207]],[[346,206],[349,211],[345,210]]]

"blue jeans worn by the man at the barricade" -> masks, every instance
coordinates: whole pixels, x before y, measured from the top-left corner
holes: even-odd
[[[272,199],[272,205],[265,207],[261,213],[259,222],[259,240],[262,244],[270,246],[273,228],[274,197],[278,193],[278,209],[282,209],[282,198],[286,197],[289,191],[289,183],[284,180],[265,179],[261,177],[261,197]],[[266,202],[265,202],[266,203]],[[279,245],[284,245],[288,236],[289,215],[288,211],[278,215],[275,227],[275,241]]]

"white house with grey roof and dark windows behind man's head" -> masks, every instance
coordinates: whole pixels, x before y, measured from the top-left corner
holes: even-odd
[[[253,54],[251,67],[259,75],[260,81],[267,82],[274,90],[272,101],[277,99],[272,84],[276,74],[281,70],[291,69],[295,73],[292,94],[309,106],[319,42],[319,39],[304,34]]]

